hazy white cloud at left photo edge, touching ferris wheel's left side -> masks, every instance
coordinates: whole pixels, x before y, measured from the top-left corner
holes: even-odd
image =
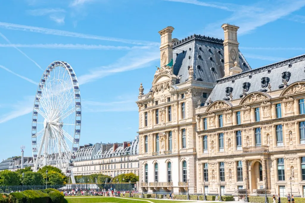
[[[10,108],[10,111],[0,115],[0,124],[31,113],[33,111],[33,102],[34,98],[32,96],[26,96],[24,97],[23,101],[18,101],[15,104],[7,105],[9,106],[7,108]]]

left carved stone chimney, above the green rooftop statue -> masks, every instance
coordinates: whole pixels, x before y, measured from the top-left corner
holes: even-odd
[[[172,43],[172,32],[174,28],[168,26],[163,30],[159,31],[161,35],[161,45],[160,45],[160,68],[165,67],[169,64],[170,60],[173,58],[173,43]]]

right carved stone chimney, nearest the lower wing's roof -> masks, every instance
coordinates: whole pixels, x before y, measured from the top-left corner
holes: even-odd
[[[223,24],[224,29],[224,77],[242,72],[239,67],[237,30],[238,26]]]

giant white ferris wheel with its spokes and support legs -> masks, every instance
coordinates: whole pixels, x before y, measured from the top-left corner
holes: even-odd
[[[41,77],[32,116],[34,172],[56,166],[73,176],[72,160],[81,134],[81,94],[73,68],[54,61]]]

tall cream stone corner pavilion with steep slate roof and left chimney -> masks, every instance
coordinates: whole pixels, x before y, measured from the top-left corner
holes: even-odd
[[[224,57],[223,40],[201,35],[172,39],[173,30],[169,26],[159,32],[160,67],[148,93],[141,84],[136,102],[140,191],[197,193],[195,109],[204,105],[216,80],[224,77],[224,66],[231,63]],[[250,70],[238,44],[234,46],[242,68],[233,65],[230,73]]]

